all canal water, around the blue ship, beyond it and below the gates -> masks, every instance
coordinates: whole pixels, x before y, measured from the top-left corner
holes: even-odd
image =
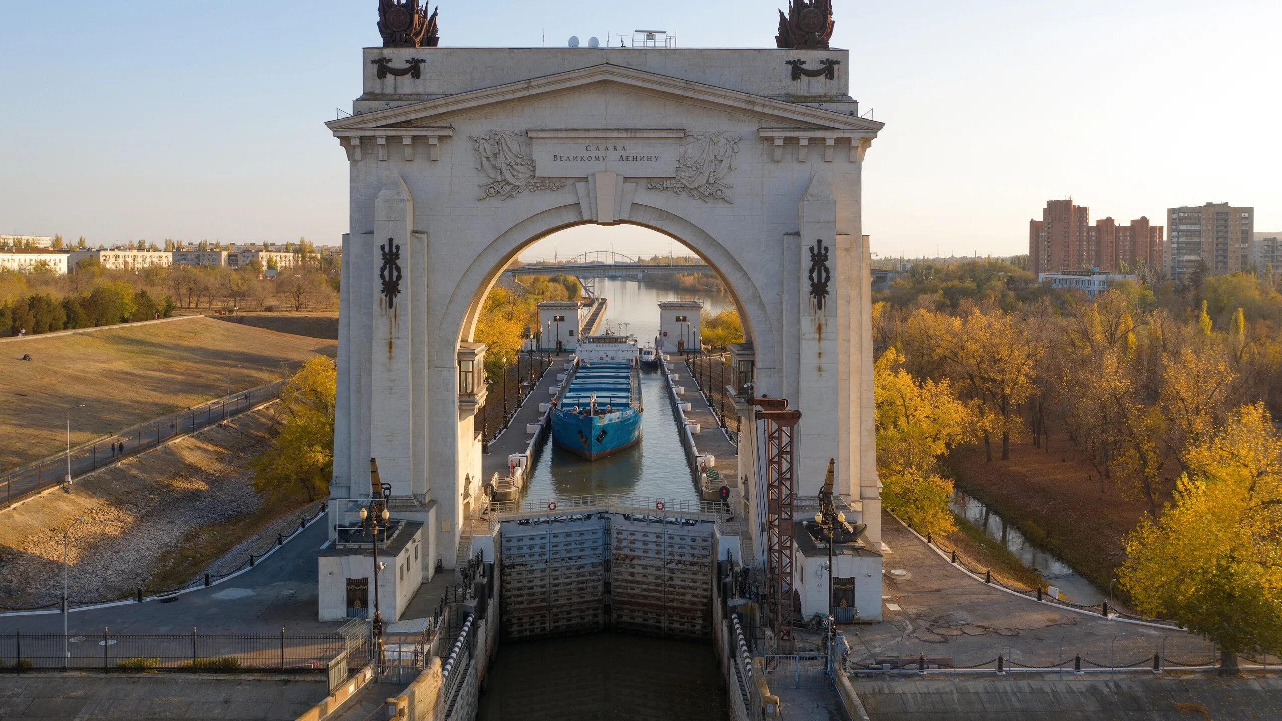
[[[597,280],[596,293],[609,301],[608,326],[636,335],[642,346],[658,332],[660,300],[697,299],[713,313],[733,307],[724,296],[636,281]],[[614,493],[696,500],[667,393],[658,371],[641,372],[641,443],[613,455],[587,462],[546,439],[523,495]],[[726,708],[710,643],[594,634],[503,644],[477,717],[715,720],[726,717]]]

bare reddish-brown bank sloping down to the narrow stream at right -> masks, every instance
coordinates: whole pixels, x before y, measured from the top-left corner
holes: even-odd
[[[986,503],[1028,540],[1054,553],[1097,588],[1108,588],[1126,562],[1126,535],[1147,513],[1144,500],[1127,498],[1061,437],[1051,452],[1010,445],[1010,461],[985,462],[982,446],[953,452],[959,489]]]

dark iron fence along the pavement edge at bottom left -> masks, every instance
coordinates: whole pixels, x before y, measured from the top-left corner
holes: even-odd
[[[0,668],[99,671],[317,671],[347,649],[341,634],[0,635]]]

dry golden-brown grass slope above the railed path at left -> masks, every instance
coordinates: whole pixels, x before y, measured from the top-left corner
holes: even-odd
[[[331,340],[194,318],[0,343],[0,471],[281,378]],[[19,360],[29,353],[32,362]]]

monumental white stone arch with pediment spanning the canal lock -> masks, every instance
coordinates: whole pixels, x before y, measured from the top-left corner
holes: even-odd
[[[755,394],[804,414],[797,498],[836,458],[851,521],[879,541],[860,171],[882,123],[847,94],[849,51],[369,47],[363,68],[355,114],[328,123],[351,168],[335,522],[368,496],[376,457],[394,513],[426,525],[415,562],[453,567],[479,505],[485,391],[460,394],[459,358],[483,354],[486,293],[553,231],[635,223],[733,294]],[[751,486],[758,446],[723,475]]]

